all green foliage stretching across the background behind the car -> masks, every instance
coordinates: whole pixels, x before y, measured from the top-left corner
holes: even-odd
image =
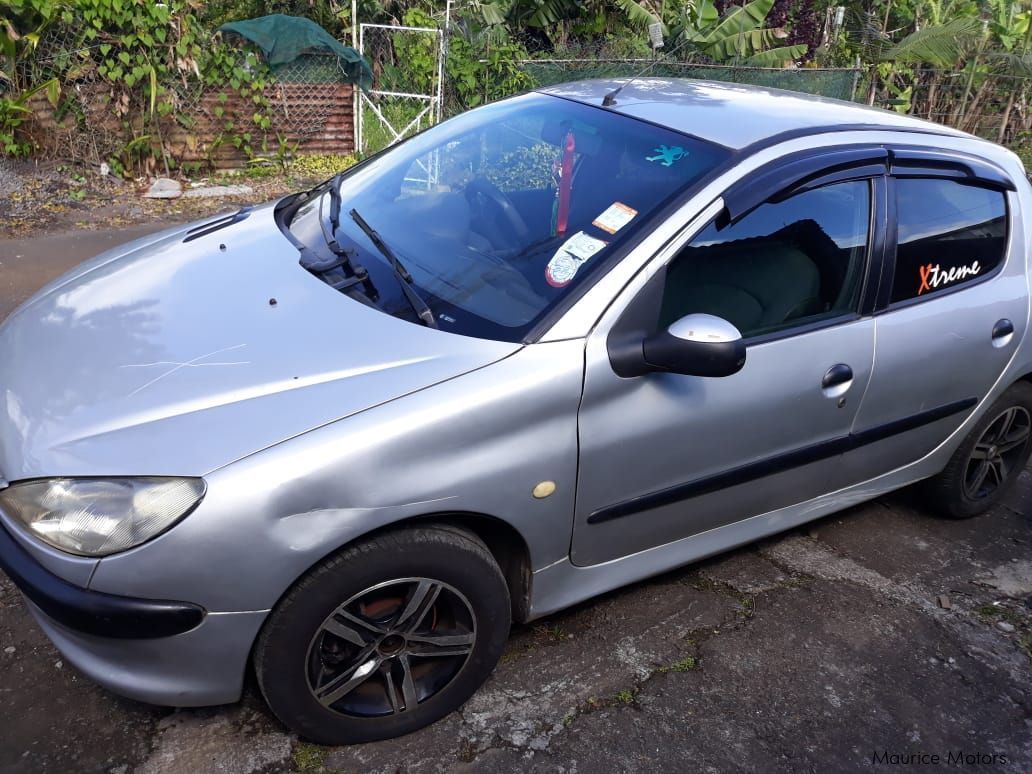
[[[214,167],[227,148],[257,167],[286,169],[301,149],[272,125],[273,73],[247,45],[213,36],[224,22],[272,12],[309,17],[351,40],[351,5],[332,0],[6,0],[0,8],[2,153],[35,151],[28,126],[36,110],[52,111],[62,126],[78,125],[87,137],[93,110],[114,116],[120,126],[118,143],[101,157],[117,174],[198,171]],[[360,0],[358,18],[445,26],[444,3],[436,0]],[[665,36],[657,72],[699,75],[690,66],[717,65],[727,69],[710,71],[715,77],[851,92],[859,101],[1005,142],[1026,163],[1032,160],[1028,0],[460,3],[445,41],[444,114],[530,88],[546,70],[556,80],[633,72],[639,65],[626,60],[653,56],[647,31],[655,24]],[[425,93],[436,85],[432,37],[384,35],[378,45],[378,87]],[[859,76],[821,69],[829,67],[854,68]],[[215,103],[201,98],[212,92]],[[423,106],[388,101],[382,109],[405,126]],[[365,119],[364,148],[393,140],[375,116]],[[192,167],[184,168],[185,157],[194,159]]]

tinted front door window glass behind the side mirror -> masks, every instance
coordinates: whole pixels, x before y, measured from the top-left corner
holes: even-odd
[[[870,214],[870,182],[851,181],[710,224],[668,268],[660,326],[703,313],[748,337],[854,312]]]

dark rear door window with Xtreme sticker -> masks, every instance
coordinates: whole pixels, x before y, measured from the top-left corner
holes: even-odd
[[[896,181],[892,302],[949,290],[991,273],[1007,241],[1004,196],[952,180]]]

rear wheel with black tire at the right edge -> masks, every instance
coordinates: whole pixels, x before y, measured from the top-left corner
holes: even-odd
[[[999,503],[1014,485],[1030,452],[1032,384],[1018,382],[978,420],[942,473],[924,482],[923,493],[942,516],[977,516]],[[983,459],[987,454],[989,459]]]

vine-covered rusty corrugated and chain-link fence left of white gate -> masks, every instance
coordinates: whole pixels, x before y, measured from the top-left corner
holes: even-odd
[[[231,45],[241,63],[253,51],[235,41],[213,44]],[[353,150],[352,88],[335,56],[307,54],[271,68],[264,90],[270,125],[262,131],[250,125],[257,109],[253,100],[223,85],[205,84],[189,69],[159,84],[161,99],[171,109],[154,114],[143,83],[116,88],[100,75],[100,43],[85,44],[74,27],[59,24],[19,63],[19,88],[52,78],[61,86],[56,106],[41,93],[30,103],[33,119],[24,131],[39,156],[96,165],[153,153],[166,164],[199,168],[238,166],[301,147],[308,152]],[[250,153],[233,141],[243,133],[254,136]]]

